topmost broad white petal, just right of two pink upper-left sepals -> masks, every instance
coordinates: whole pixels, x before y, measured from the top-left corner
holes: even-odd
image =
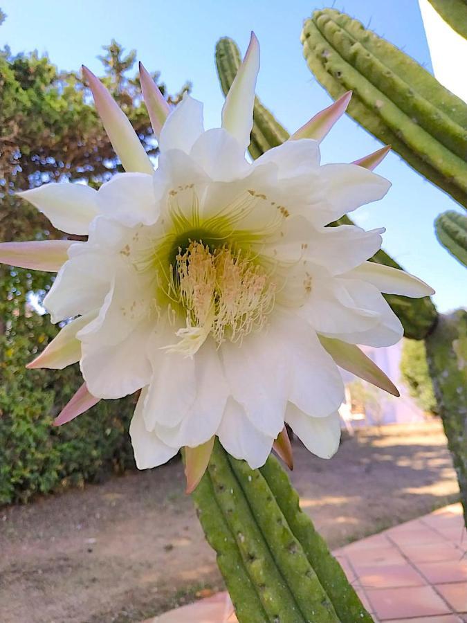
[[[161,153],[167,150],[181,150],[188,154],[196,138],[203,132],[203,105],[185,95],[167,117],[161,129],[159,149]]]

